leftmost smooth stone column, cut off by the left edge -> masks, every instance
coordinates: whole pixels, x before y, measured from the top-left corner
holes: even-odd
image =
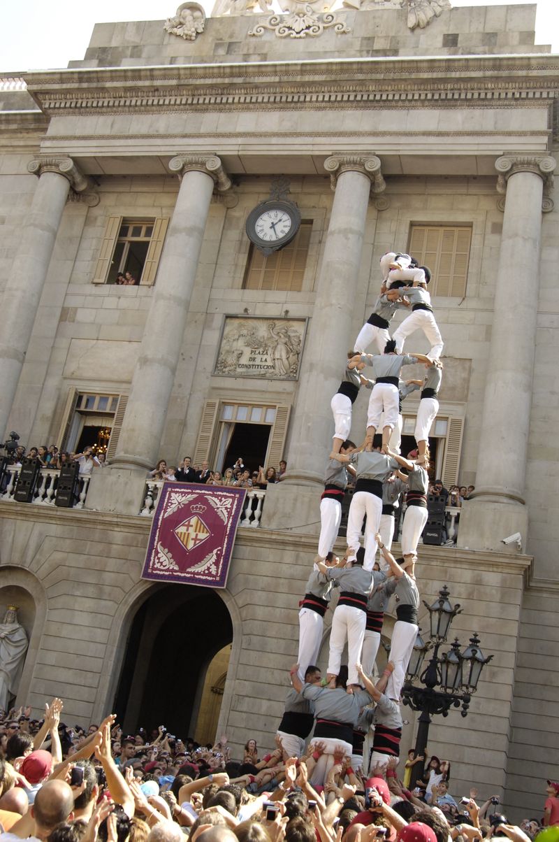
[[[27,169],[39,182],[3,296],[0,435],[6,431],[68,193],[71,188],[81,193],[89,184],[70,157],[37,158]]]

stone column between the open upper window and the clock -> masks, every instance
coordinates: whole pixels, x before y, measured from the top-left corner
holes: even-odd
[[[169,168],[181,185],[113,461],[114,466],[142,471],[159,455],[211,195],[215,185],[221,191],[231,186],[215,155],[174,157]]]

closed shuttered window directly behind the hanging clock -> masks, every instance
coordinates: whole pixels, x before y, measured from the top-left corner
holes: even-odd
[[[306,258],[311,242],[312,222],[303,221],[297,236],[289,245],[267,258],[251,243],[248,263],[242,282],[245,290],[290,290],[301,292]]]

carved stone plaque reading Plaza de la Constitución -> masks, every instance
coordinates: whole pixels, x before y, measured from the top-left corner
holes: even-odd
[[[306,319],[227,316],[214,374],[296,380]]]

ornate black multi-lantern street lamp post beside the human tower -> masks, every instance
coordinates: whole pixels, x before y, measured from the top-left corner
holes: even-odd
[[[461,646],[456,637],[450,650],[439,657],[439,647],[446,642],[450,624],[455,616],[461,613],[461,607],[455,605],[453,608],[450,605],[449,590],[446,585],[439,591],[439,599],[435,600],[433,605],[428,605],[426,602],[423,602],[423,605],[429,610],[429,641],[424,642],[418,632],[412,657],[407,665],[407,680],[402,689],[402,699],[404,705],[411,707],[414,711],[421,711],[415,755],[424,758],[431,717],[439,713],[448,717],[450,707],[460,706],[462,707],[461,716],[466,717],[471,694],[477,690],[482,669],[493,656],[489,655],[487,658],[483,656],[479,647],[479,637],[475,632],[470,638],[470,646],[466,647],[464,652],[460,651]],[[423,658],[431,648],[433,654],[427,668],[421,673]],[[419,679],[423,686],[414,685],[413,682],[416,679]],[[420,760],[412,767],[412,787],[423,775],[424,762],[424,759]]]

